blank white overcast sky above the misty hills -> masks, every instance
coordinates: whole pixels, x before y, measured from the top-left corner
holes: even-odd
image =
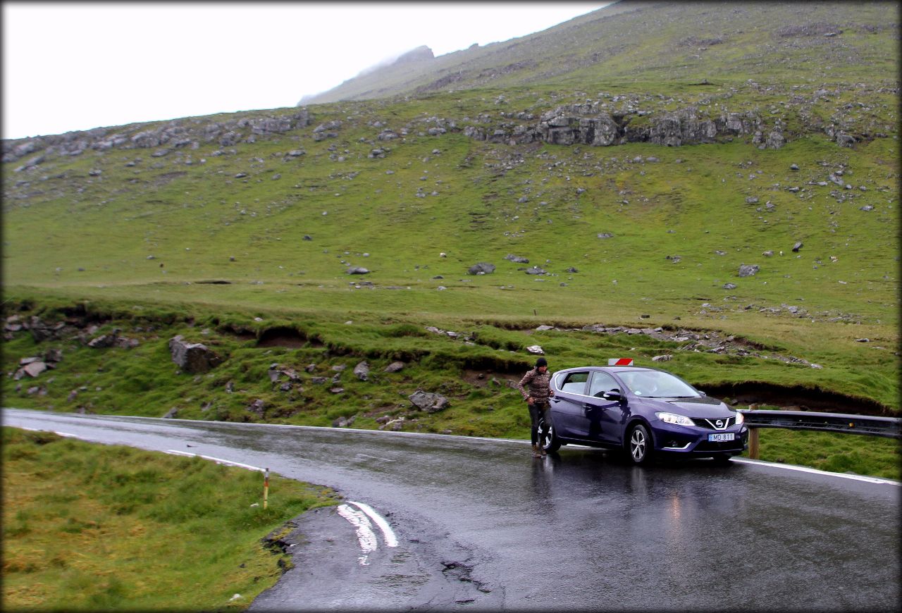
[[[3,2],[3,138],[298,104],[610,2]]]

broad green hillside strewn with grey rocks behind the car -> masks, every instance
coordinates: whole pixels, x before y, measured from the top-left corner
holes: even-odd
[[[510,383],[538,344],[553,369],[630,356],[737,406],[897,414],[888,6],[829,19],[810,3],[679,6],[624,3],[565,24],[586,32],[568,34],[566,52],[632,32],[649,57],[671,58],[648,28],[704,38],[726,27],[724,10],[748,15],[729,22],[732,42],[705,43],[724,59],[704,70],[658,71],[629,55],[620,72],[614,59],[555,60],[569,72],[5,142],[4,368],[63,352],[53,371],[7,377],[7,404],[520,437],[525,410]],[[780,15],[799,6],[842,34],[774,34],[795,27]],[[648,28],[599,29],[614,18]],[[810,69],[805,54],[837,37],[830,53],[850,53],[842,62],[858,70],[831,59],[828,85],[824,62]],[[749,47],[731,47],[739,40]],[[530,49],[536,61],[565,52]],[[627,78],[630,62],[645,80]],[[782,126],[786,143],[767,147],[754,130],[678,147],[515,137],[587,99],[632,134],[689,109],[755,117],[764,134]],[[468,274],[477,262],[496,268]],[[743,265],[759,270],[741,277]],[[544,273],[529,274],[535,266]],[[59,334],[36,340],[32,316]],[[88,346],[102,334],[138,345]],[[167,344],[176,334],[222,364],[178,372]],[[351,372],[364,360],[366,381]],[[398,360],[403,371],[383,372]],[[271,380],[273,363],[298,378]],[[445,394],[449,407],[418,411],[416,389]]]

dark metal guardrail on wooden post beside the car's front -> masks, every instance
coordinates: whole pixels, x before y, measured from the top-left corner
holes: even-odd
[[[820,432],[844,432],[850,435],[902,438],[902,419],[898,417],[757,409],[738,409],[737,412],[745,417],[745,425],[749,426],[749,457],[752,460],[758,459],[759,428],[817,430]]]

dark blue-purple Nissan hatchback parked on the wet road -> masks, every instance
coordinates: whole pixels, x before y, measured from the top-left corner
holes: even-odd
[[[569,443],[622,449],[637,464],[655,455],[725,462],[749,441],[741,413],[667,371],[631,365],[571,368],[552,374],[550,386],[551,423],[539,430],[548,452]]]

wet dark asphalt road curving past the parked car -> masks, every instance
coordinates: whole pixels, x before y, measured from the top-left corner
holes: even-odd
[[[350,524],[334,509],[308,514],[292,548],[298,570],[252,610],[899,603],[894,482],[735,460],[639,468],[568,446],[535,460],[525,442],[442,435],[17,409],[4,409],[3,423],[268,467],[365,502],[398,535],[399,547],[359,565]]]

